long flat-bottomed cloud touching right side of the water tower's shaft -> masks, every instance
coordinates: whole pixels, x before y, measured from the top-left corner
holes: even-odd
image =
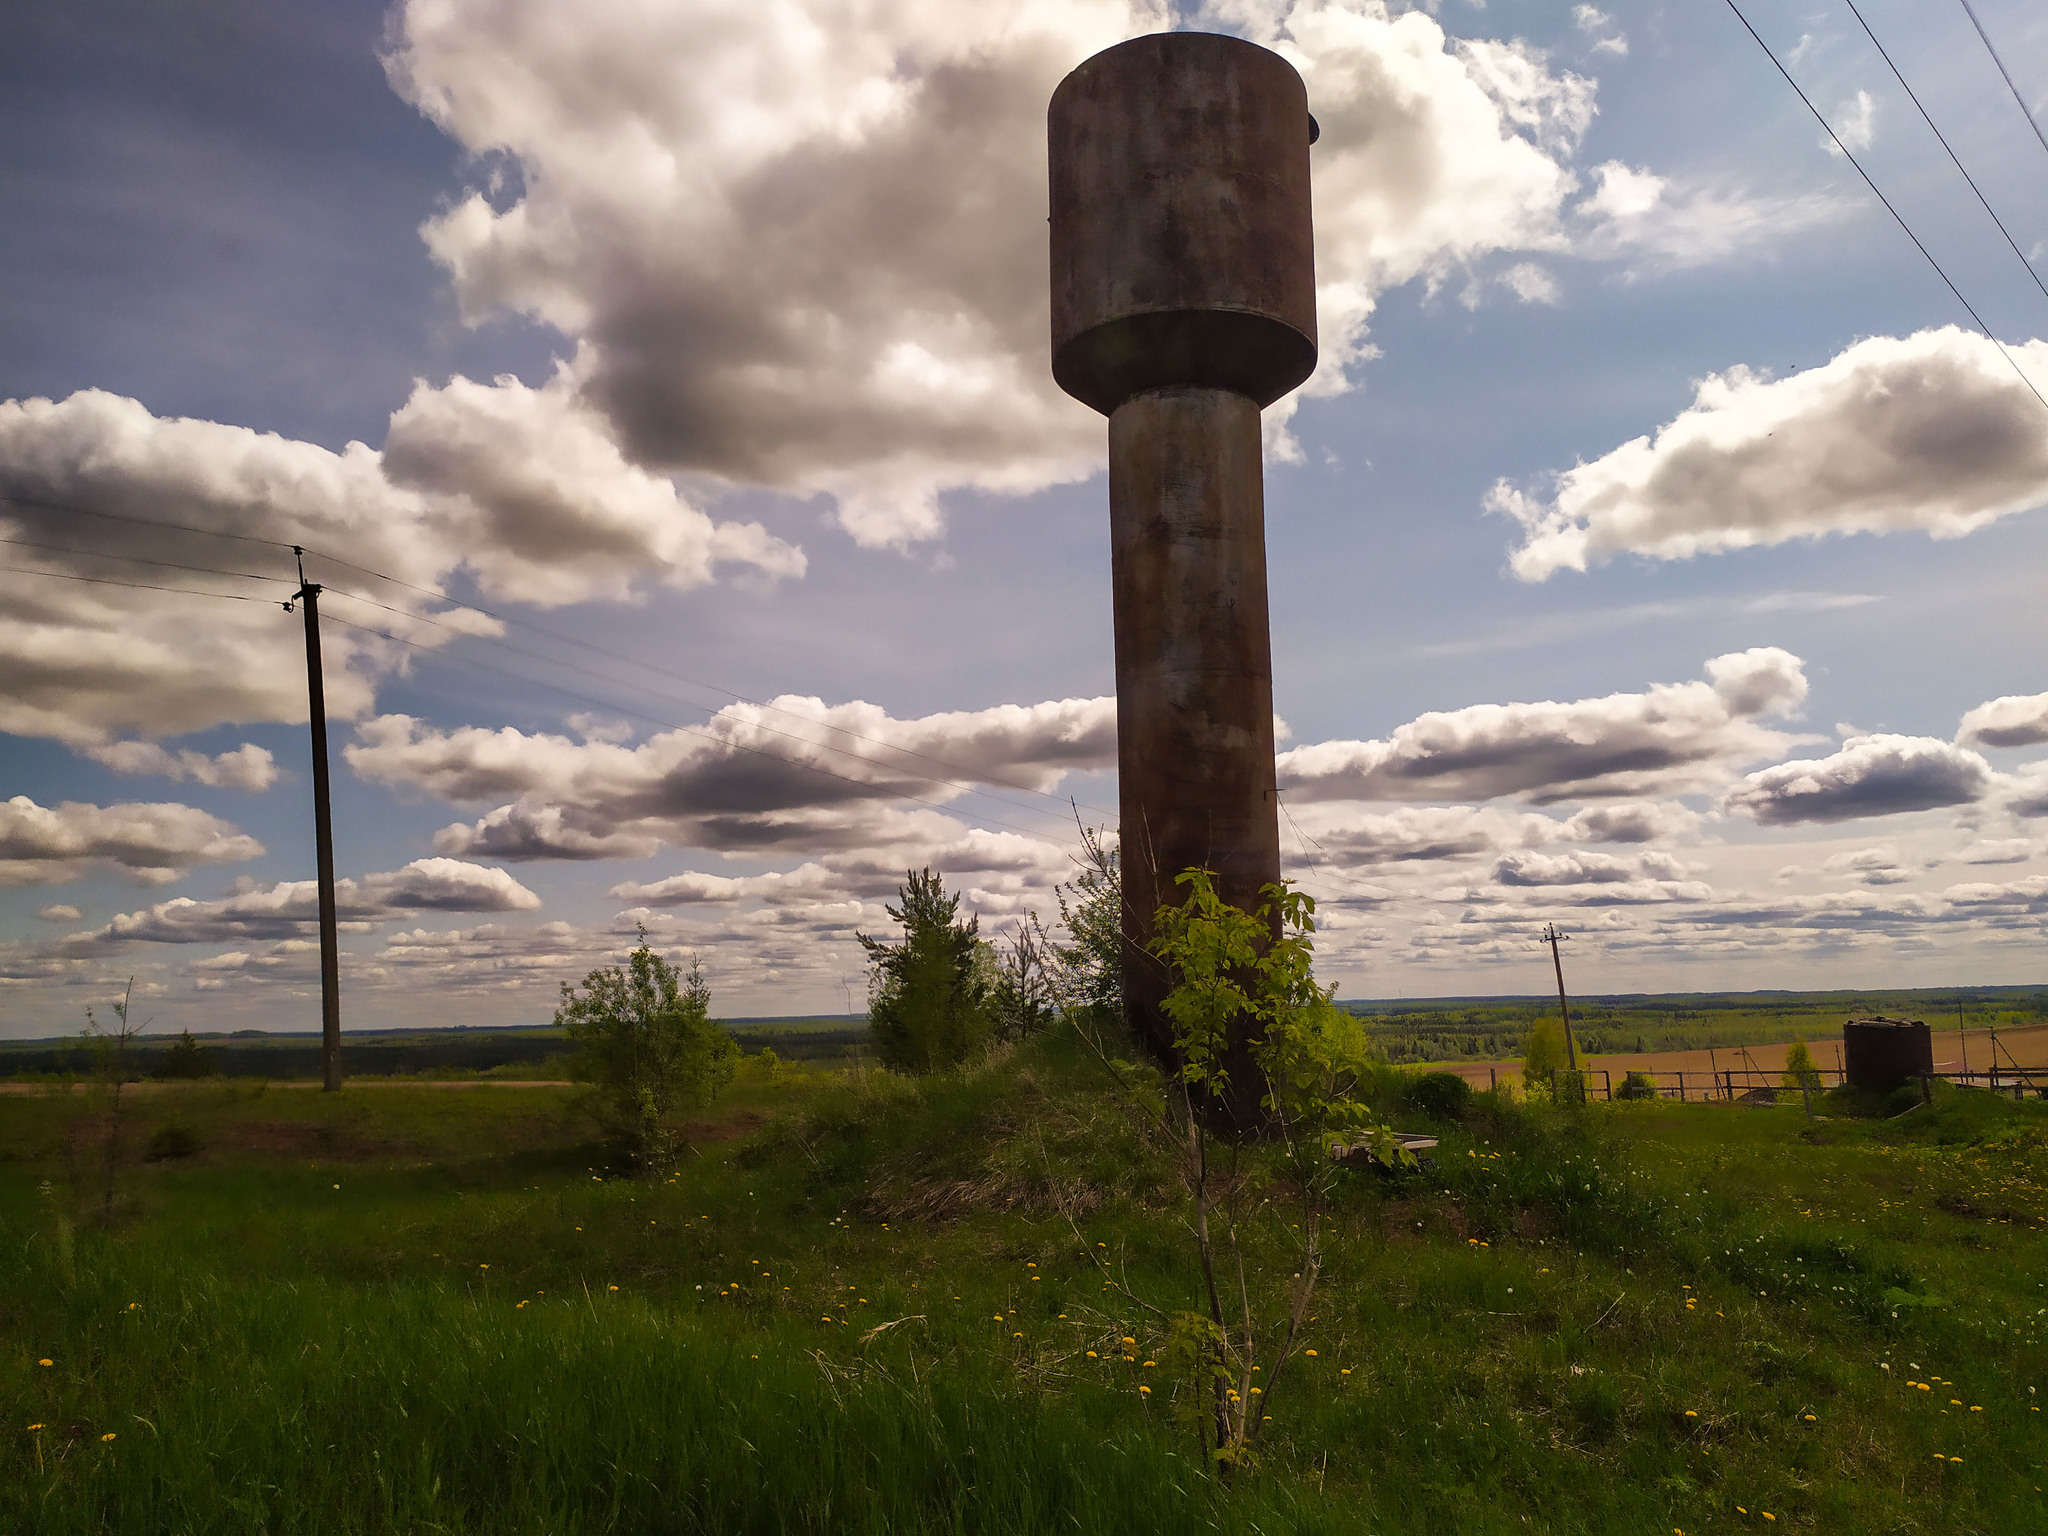
[[[1470,705],[1421,715],[1378,741],[1280,754],[1280,788],[1317,801],[1489,801],[1673,795],[1784,750],[1757,721],[1806,696],[1796,655],[1718,655],[1704,682],[1573,702]]]

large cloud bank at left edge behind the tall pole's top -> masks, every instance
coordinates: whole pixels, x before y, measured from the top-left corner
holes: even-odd
[[[770,575],[803,569],[799,551],[754,524],[715,524],[666,481],[627,467],[616,446],[606,453],[600,424],[561,379],[545,389],[479,389],[461,379],[440,391],[422,387],[393,430],[403,483],[360,442],[332,453],[272,432],[158,418],[98,389],[61,401],[0,401],[0,530],[59,547],[16,549],[8,563],[37,573],[0,573],[0,672],[8,678],[0,731],[55,737],[117,768],[256,786],[264,776],[256,748],[203,766],[201,754],[152,752],[147,739],[305,719],[299,621],[270,602],[295,588],[291,553],[268,541],[334,551],[428,590],[467,571],[483,592],[522,602],[616,598],[635,575],[692,586],[717,563]],[[428,432],[438,446],[424,442]],[[133,520],[96,522],[74,506]],[[238,575],[162,580],[111,559],[115,549]],[[309,571],[328,586],[328,614],[401,641],[432,647],[465,629],[496,629],[465,610],[434,612],[430,602],[422,612],[432,612],[432,625],[362,608],[350,592],[395,606],[414,598],[317,559]],[[408,657],[406,645],[348,623],[328,627],[324,653],[328,709],[344,719],[365,715],[375,682]],[[147,739],[119,739],[127,733]]]

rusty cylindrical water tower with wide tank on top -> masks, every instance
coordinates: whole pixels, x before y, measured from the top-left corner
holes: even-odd
[[[1053,377],[1110,418],[1124,1008],[1171,1061],[1147,952],[1174,877],[1280,879],[1260,412],[1315,369],[1300,76],[1212,33],[1098,53],[1053,92]],[[1245,1040],[1206,1106],[1262,1122]]]

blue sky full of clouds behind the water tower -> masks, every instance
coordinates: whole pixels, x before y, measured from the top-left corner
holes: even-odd
[[[2011,88],[1956,0],[12,8],[0,1036],[317,1028],[293,545],[346,1028],[641,932],[854,1012],[907,868],[1057,920],[1116,711],[1044,102],[1163,29],[1321,125],[1323,979],[1534,993],[1552,922],[1587,993],[2048,979],[2048,12],[1972,4]]]

